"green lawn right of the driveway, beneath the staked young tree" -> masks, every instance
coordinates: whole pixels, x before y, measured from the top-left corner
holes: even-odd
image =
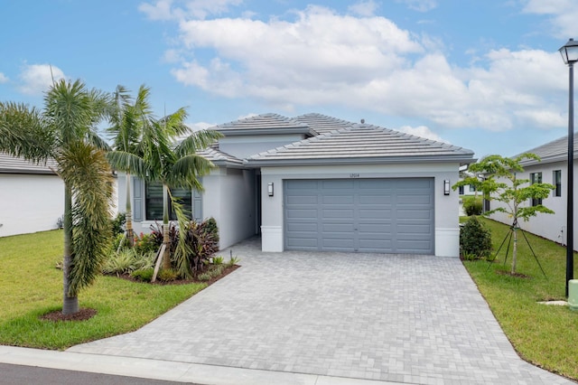
[[[509,227],[496,221],[482,221],[491,230],[492,255],[495,255]],[[521,226],[524,228],[523,222]],[[510,270],[511,247],[504,266],[507,244],[504,244],[490,268],[485,261],[464,261],[464,266],[519,355],[548,371],[578,380],[578,312],[571,311],[567,306],[537,304],[538,301],[565,299],[565,248],[550,240],[526,234],[547,278],[540,271],[521,234],[517,241],[516,270],[528,277],[497,273],[498,270]],[[578,277],[576,266],[574,269],[574,277]]]

